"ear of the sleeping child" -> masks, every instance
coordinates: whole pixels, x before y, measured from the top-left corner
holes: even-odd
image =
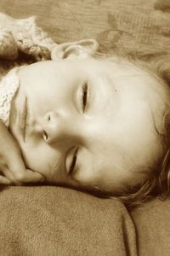
[[[66,58],[87,58],[95,55],[99,44],[94,39],[83,39],[77,42],[59,44],[51,52],[51,59],[57,61]]]

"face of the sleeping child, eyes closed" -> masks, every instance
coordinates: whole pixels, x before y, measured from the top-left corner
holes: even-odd
[[[20,70],[10,130],[26,166],[49,182],[112,190],[162,154],[167,89],[127,62],[44,61]]]

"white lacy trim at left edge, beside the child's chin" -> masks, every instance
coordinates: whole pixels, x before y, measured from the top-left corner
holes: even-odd
[[[11,101],[19,88],[20,79],[15,67],[0,81],[0,119],[8,127]]]

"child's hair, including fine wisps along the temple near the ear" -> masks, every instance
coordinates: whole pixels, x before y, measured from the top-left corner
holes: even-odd
[[[170,55],[162,54],[137,54],[116,55],[117,59],[121,56],[122,59],[128,59],[139,67],[143,67],[152,75],[156,76],[169,85],[170,90]],[[105,55],[96,55],[97,59],[103,59]],[[112,57],[109,57],[112,58]],[[114,60],[114,57],[113,57]],[[170,99],[169,99],[170,100]],[[148,201],[155,196],[161,200],[165,200],[170,195],[170,109],[167,108],[164,116],[164,132],[159,133],[161,143],[164,148],[164,155],[161,160],[158,160],[156,166],[149,170],[147,176],[141,180],[136,186],[127,186],[123,191],[111,193],[101,191],[95,188],[94,193],[106,197],[111,197],[111,194],[119,197],[127,207],[135,207],[144,201]]]

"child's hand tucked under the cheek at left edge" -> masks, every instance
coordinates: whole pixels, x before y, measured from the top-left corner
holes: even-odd
[[[38,183],[44,177],[26,169],[20,154],[20,147],[14,141],[5,125],[0,121],[0,183],[21,185],[22,183]]]

